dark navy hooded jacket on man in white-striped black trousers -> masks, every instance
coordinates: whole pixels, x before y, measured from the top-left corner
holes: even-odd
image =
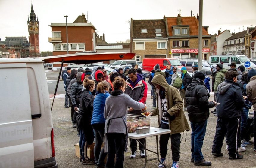
[[[241,116],[245,101],[238,83],[226,79],[218,86],[216,99],[220,103],[216,106],[218,117],[233,118]]]

